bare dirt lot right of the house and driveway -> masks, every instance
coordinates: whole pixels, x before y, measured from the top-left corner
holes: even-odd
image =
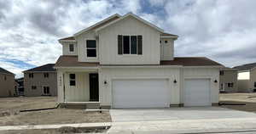
[[[223,108],[256,113],[256,93],[221,93],[219,103],[224,103]]]

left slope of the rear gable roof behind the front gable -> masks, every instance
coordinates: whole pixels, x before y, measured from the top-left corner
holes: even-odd
[[[84,33],[85,31],[90,31],[90,30],[96,29],[98,27],[101,27],[102,25],[106,25],[106,24],[110,23],[113,20],[117,20],[120,17],[121,16],[119,14],[113,14],[112,16],[108,17],[107,19],[102,20],[102,21],[96,23],[95,25],[91,25],[90,27],[87,27],[84,30],[75,33],[73,36],[79,36],[80,34]]]

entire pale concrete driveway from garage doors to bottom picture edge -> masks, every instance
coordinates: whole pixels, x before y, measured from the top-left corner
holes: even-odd
[[[110,109],[108,133],[256,132],[256,114],[219,107]]]

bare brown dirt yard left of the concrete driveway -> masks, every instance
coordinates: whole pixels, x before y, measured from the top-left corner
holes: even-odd
[[[0,98],[0,126],[45,125],[86,122],[111,122],[108,111],[86,112],[84,109],[49,109],[19,112],[22,109],[55,107],[56,98]]]

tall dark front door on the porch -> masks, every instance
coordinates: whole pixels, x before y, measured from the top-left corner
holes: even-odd
[[[99,76],[89,74],[90,77],[90,101],[99,101]]]

